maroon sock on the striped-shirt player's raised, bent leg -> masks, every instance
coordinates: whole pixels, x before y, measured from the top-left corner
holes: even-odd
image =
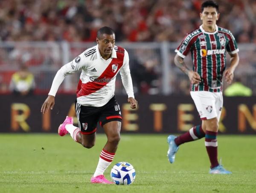
[[[198,125],[191,128],[188,132],[175,138],[174,142],[177,146],[179,146],[180,144],[183,144],[189,141],[195,141],[195,140],[201,139],[204,136],[205,136],[205,133],[204,133],[204,130],[202,129],[202,126]]]

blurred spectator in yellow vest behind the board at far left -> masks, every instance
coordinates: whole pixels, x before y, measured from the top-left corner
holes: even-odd
[[[32,95],[35,89],[34,75],[27,66],[22,65],[20,70],[12,75],[10,91],[18,96]]]

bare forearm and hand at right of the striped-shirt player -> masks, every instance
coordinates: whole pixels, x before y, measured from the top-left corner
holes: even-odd
[[[230,58],[230,67],[227,68],[224,72],[224,77],[228,84],[230,84],[233,81],[234,71],[239,64],[238,52],[236,52],[234,54],[230,53],[230,57],[231,57]]]

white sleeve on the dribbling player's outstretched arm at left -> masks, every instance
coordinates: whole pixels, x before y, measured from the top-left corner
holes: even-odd
[[[86,67],[87,67],[87,59],[84,56],[84,52],[83,52],[74,60],[65,64],[64,66],[61,67],[61,69],[58,70],[58,72],[56,73],[52,81],[52,86],[48,95],[52,95],[52,96],[56,95],[58,88],[63,82],[66,75],[74,74],[76,71],[79,71],[80,69],[86,69]]]

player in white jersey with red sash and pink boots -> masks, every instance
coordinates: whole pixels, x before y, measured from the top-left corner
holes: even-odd
[[[120,140],[122,116],[114,96],[116,75],[119,71],[132,109],[137,107],[137,101],[134,99],[128,52],[115,46],[113,30],[106,26],[99,29],[96,42],[96,46],[85,50],[58,70],[41,112],[45,113],[53,108],[56,92],[65,76],[81,70],[76,90],[79,128],[73,126],[73,118],[67,116],[58,128],[58,134],[64,136],[70,133],[74,141],[85,148],[92,148],[96,138],[96,125],[99,122],[108,140],[100,153],[99,163],[90,181],[96,184],[112,184],[105,179],[103,173],[113,161]]]

